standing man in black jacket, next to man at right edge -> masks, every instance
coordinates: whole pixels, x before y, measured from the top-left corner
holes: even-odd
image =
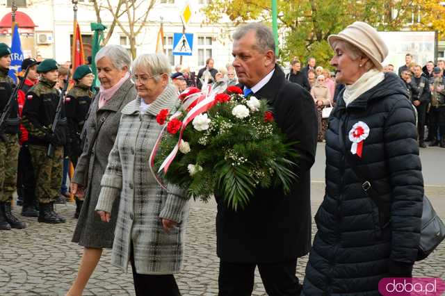
[[[414,67],[414,77],[411,79],[411,101],[417,110],[417,130],[419,132],[419,146],[426,148],[425,135],[425,119],[426,108],[431,101],[430,83],[426,76],[422,74],[422,67],[416,65]]]

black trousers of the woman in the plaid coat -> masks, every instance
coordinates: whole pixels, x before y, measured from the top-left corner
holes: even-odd
[[[133,252],[130,254],[130,261],[136,296],[181,296],[173,274],[138,274]]]

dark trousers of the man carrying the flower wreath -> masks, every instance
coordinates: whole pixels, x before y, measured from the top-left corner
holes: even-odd
[[[250,296],[254,286],[254,271],[259,274],[269,296],[297,296],[302,286],[296,277],[297,260],[280,263],[220,262],[219,296]]]

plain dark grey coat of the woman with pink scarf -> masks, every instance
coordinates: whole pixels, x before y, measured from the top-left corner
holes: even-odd
[[[131,79],[127,79],[102,108],[98,109],[99,94],[91,104],[86,122],[86,142],[72,180],[74,183],[81,184],[86,193],[72,238],[73,242],[79,242],[79,245],[84,247],[111,248],[113,246],[118,206],[115,206],[115,215],[109,223],[100,220],[95,207],[101,188],[100,181],[108,163],[108,154],[113,148],[118,133],[120,111],[136,97],[136,89]],[[93,140],[96,131],[98,131],[97,138]],[[118,202],[116,200],[116,204]]]

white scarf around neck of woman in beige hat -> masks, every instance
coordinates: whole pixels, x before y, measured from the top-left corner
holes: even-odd
[[[371,90],[375,85],[382,82],[385,79],[385,74],[376,69],[371,69],[363,74],[355,83],[345,86],[343,92],[343,100],[348,106],[352,101],[357,99],[364,92]]]

